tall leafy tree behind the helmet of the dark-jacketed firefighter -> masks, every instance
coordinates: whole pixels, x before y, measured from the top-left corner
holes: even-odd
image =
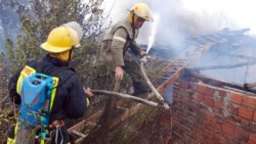
[[[102,2],[103,0],[90,0],[88,3],[83,3],[81,0],[35,0],[23,4],[14,0],[5,2],[6,6],[12,7],[19,14],[23,31],[22,35],[17,36],[17,44],[14,44],[10,38],[6,41],[10,72],[17,71],[26,61],[40,59],[44,52],[39,46],[47,39],[50,31],[71,21],[82,24],[86,31],[81,49],[77,50],[73,62],[80,64],[74,65],[78,68],[78,73],[84,79],[93,79],[92,75],[95,75],[93,70],[100,68],[100,72],[104,72],[96,62],[99,60],[97,39],[102,33],[102,25],[105,22]],[[80,66],[83,69],[79,68]],[[84,73],[87,73],[87,76],[83,76]],[[85,80],[83,82],[87,83]]]

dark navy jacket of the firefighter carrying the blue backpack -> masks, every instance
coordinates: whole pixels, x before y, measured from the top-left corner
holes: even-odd
[[[50,124],[54,120],[79,118],[86,113],[87,95],[84,93],[77,74],[72,68],[68,68],[67,62],[46,55],[42,62],[31,61],[27,65],[34,68],[36,72],[40,69],[41,73],[49,76],[57,73],[55,76],[59,78],[56,96],[50,111]],[[9,97],[16,104],[20,104],[20,95],[16,92],[16,85],[21,71],[22,69],[15,73],[9,81]]]

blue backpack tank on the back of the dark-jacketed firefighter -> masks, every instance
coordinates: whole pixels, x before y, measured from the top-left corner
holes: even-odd
[[[19,124],[26,129],[38,125],[49,126],[49,104],[54,89],[54,79],[42,73],[34,73],[22,79]]]

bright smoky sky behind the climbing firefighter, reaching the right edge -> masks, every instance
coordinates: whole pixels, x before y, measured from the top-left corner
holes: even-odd
[[[147,3],[152,12],[159,15],[156,31],[158,43],[180,44],[187,37],[226,27],[250,28],[248,34],[256,35],[256,1],[253,0],[108,0],[105,1],[105,13],[110,12],[110,18],[115,23],[125,18],[127,9],[137,2]],[[151,25],[145,23],[142,26],[138,43],[148,43]]]

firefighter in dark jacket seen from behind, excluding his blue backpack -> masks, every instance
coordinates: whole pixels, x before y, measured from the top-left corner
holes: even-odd
[[[52,143],[70,143],[70,136],[63,120],[66,118],[77,119],[86,113],[89,104],[88,97],[93,94],[90,89],[83,89],[73,68],[68,66],[72,58],[72,52],[79,46],[82,39],[83,31],[81,26],[76,22],[70,22],[53,29],[47,41],[41,45],[41,48],[48,52],[42,61],[31,61],[26,63],[21,71],[18,71],[10,79],[9,96],[16,103],[23,103],[20,97],[19,87],[20,80],[24,77],[31,76],[33,73],[43,73],[52,76],[55,83],[52,89],[49,105],[49,127],[52,133]],[[20,142],[18,139],[22,128],[19,125],[13,126],[8,132],[7,143]],[[25,141],[25,137],[23,142]],[[30,143],[30,142],[24,142]],[[44,140],[41,140],[44,143]]]

